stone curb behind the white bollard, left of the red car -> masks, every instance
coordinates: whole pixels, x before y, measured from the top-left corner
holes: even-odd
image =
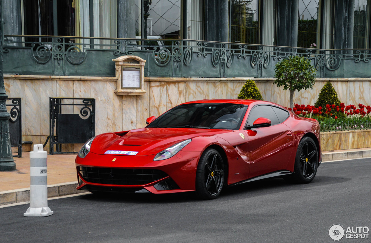
[[[47,185],[47,197],[60,197],[70,194],[84,193],[76,190],[77,181]],[[30,188],[22,188],[9,191],[0,191],[0,206],[11,203],[30,201]]]

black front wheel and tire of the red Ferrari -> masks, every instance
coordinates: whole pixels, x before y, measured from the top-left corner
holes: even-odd
[[[196,194],[210,200],[219,196],[224,184],[223,159],[217,150],[207,148],[198,161],[196,172]]]

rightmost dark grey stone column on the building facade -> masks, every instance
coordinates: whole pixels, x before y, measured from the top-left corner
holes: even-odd
[[[354,0],[336,0],[334,49],[353,48]]]

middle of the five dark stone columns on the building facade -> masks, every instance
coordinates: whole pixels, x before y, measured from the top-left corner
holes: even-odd
[[[204,40],[228,42],[228,0],[205,0]]]

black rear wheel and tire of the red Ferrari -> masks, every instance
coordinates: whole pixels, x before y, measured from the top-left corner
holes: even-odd
[[[310,183],[318,169],[318,148],[310,137],[304,137],[296,151],[294,174],[288,178],[296,183]]]

